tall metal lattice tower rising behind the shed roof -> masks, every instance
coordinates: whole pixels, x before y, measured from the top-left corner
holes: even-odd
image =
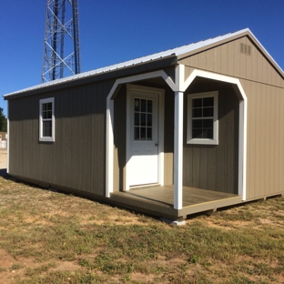
[[[47,0],[42,83],[80,72],[78,0]]]

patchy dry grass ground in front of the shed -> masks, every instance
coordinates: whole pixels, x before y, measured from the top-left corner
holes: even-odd
[[[283,239],[284,198],[169,227],[0,177],[5,283],[283,283]]]

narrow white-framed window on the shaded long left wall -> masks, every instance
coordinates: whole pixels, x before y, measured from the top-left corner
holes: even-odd
[[[39,141],[55,142],[55,98],[39,101]]]

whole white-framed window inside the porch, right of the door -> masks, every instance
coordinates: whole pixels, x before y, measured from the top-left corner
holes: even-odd
[[[218,145],[218,91],[188,94],[188,144]]]

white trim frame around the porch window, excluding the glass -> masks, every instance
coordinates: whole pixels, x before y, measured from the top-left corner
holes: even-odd
[[[213,139],[192,138],[192,99],[199,97],[214,97]],[[188,144],[218,145],[218,91],[188,94]]]

